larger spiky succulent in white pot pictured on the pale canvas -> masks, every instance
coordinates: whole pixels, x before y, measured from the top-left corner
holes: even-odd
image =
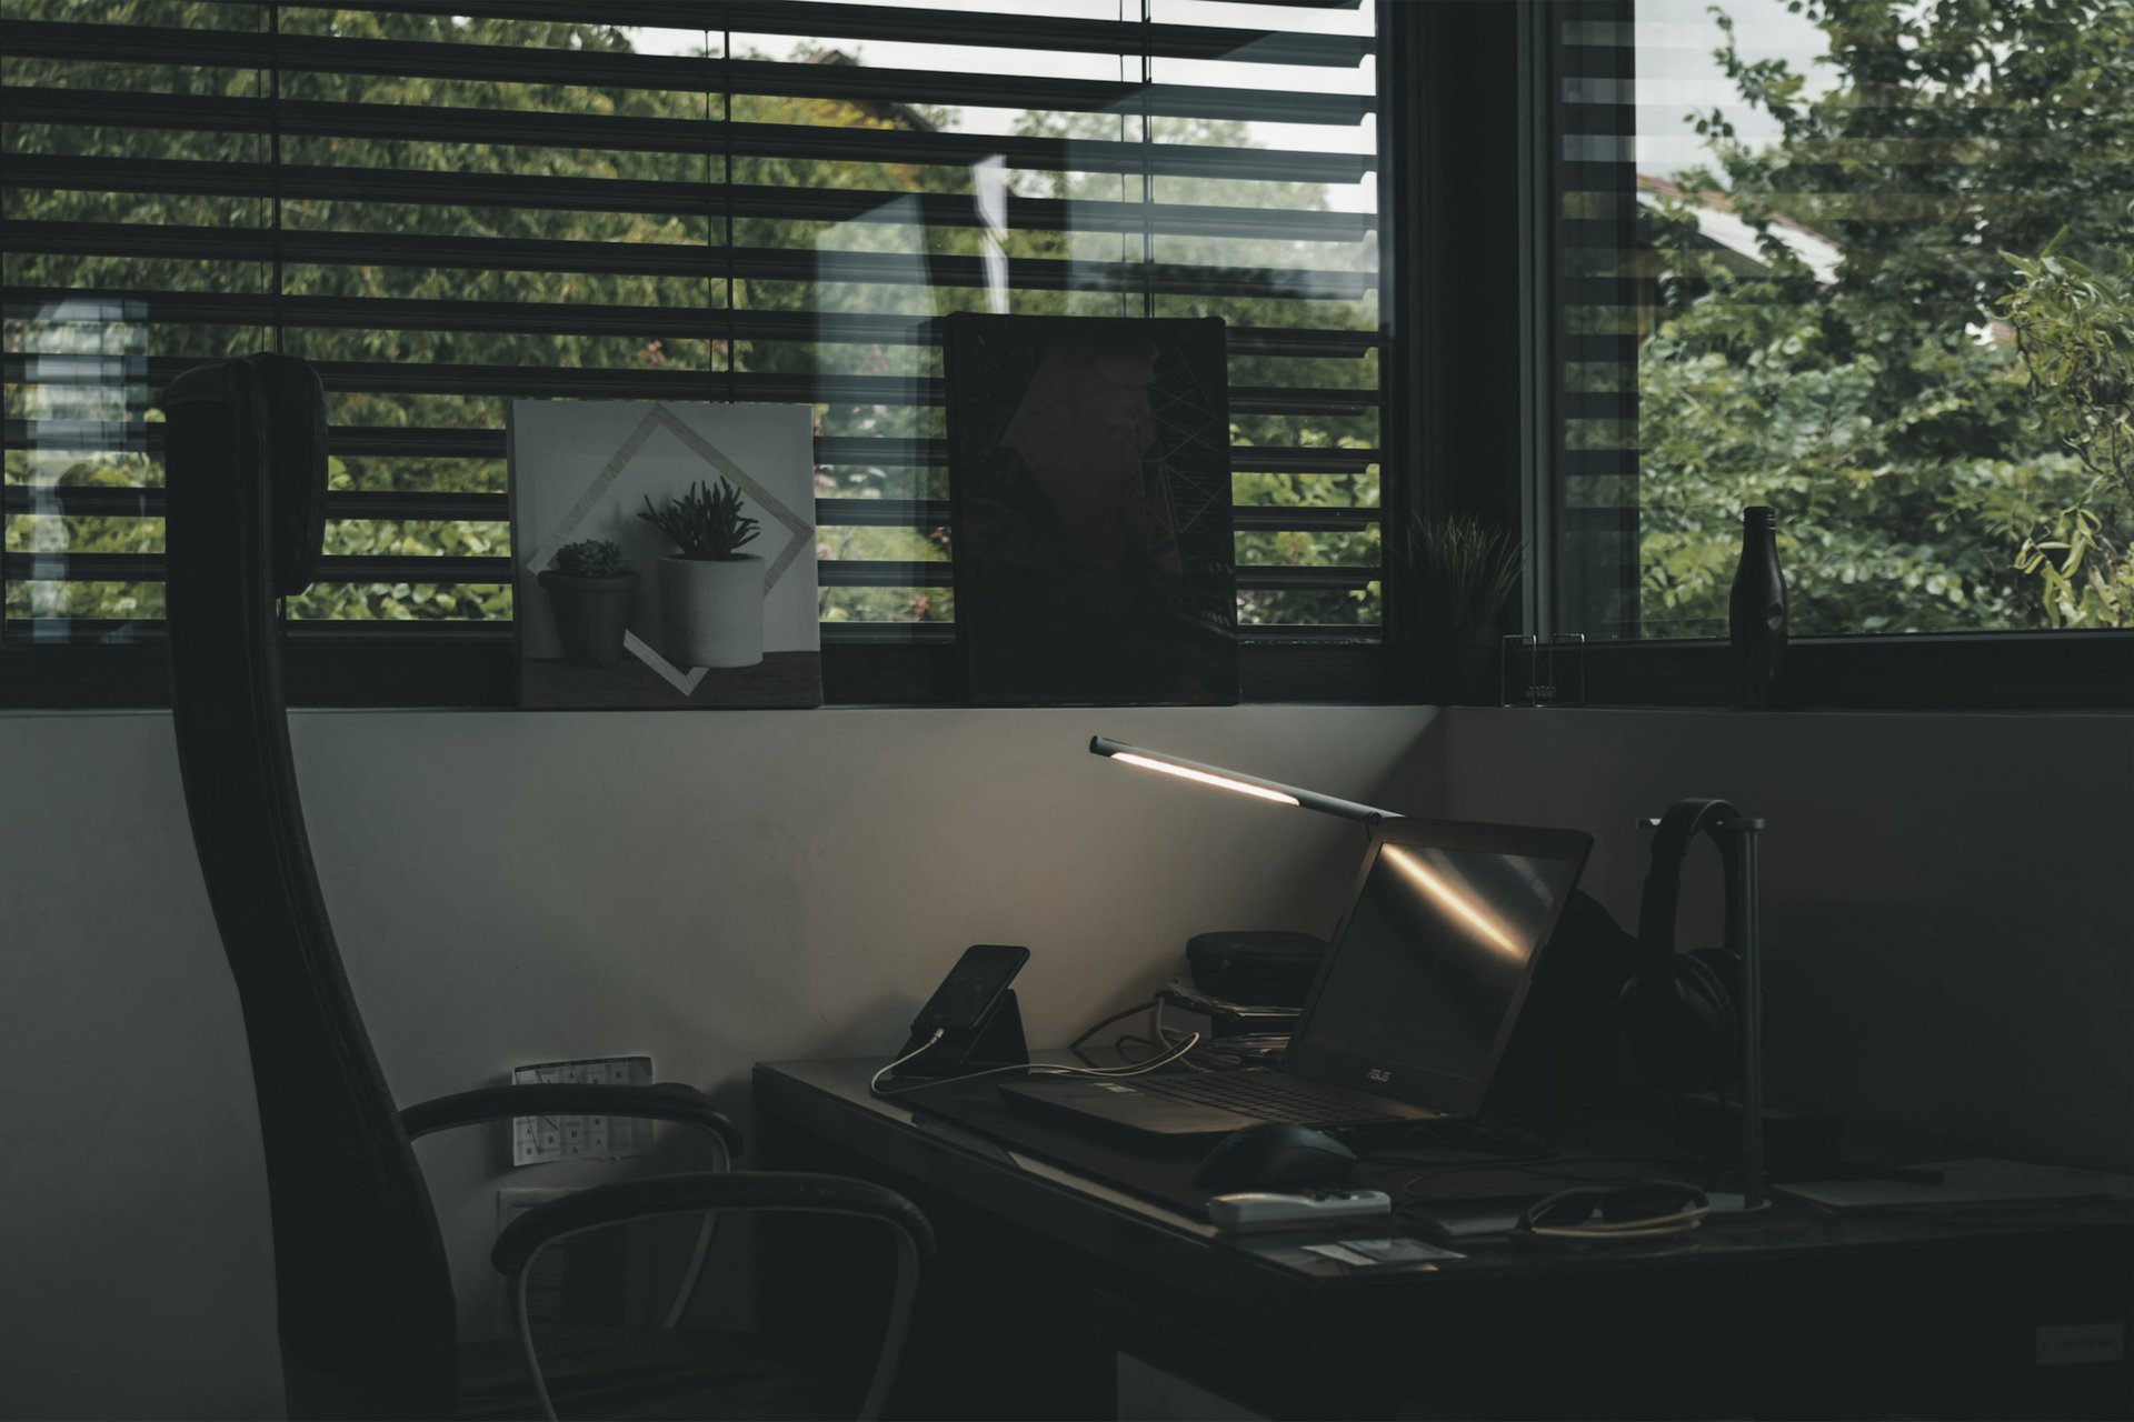
[[[753,667],[764,659],[764,561],[740,548],[758,524],[740,512],[740,490],[702,480],[653,507],[644,522],[679,552],[659,559],[659,623],[666,657],[681,667]]]

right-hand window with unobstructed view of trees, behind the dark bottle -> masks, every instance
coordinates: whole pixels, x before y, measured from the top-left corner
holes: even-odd
[[[1976,669],[2087,633],[2023,655],[2125,680],[2100,629],[2134,627],[2130,26],[2128,0],[1554,11],[1556,629],[1724,637],[1739,512],[1769,503],[1797,640],[1965,637]]]

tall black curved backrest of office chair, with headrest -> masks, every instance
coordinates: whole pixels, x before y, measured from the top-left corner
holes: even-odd
[[[294,1418],[448,1418],[444,1241],[303,831],[275,597],[324,529],[324,394],[301,360],[188,371],[164,392],[171,710],[186,810],[252,1047]]]

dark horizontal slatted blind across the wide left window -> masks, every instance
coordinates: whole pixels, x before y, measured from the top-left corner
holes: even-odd
[[[939,318],[967,309],[1223,316],[1240,618],[1372,635],[1370,30],[11,0],[4,637],[156,631],[156,392],[252,350],[327,384],[316,631],[508,623],[504,411],[551,397],[813,405],[828,633],[924,637],[954,618]]]

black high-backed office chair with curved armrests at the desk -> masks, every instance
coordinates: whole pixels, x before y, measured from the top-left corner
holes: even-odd
[[[461,1350],[444,1241],[410,1141],[557,1113],[683,1124],[708,1134],[721,1160],[740,1141],[711,1098],[685,1085],[493,1087],[395,1109],[318,891],[282,695],[275,599],[309,586],[322,552],[324,394],[305,362],[252,356],[179,375],[164,411],[171,708],[201,874],[252,1051],[288,1416],[659,1416],[662,1403],[681,1416],[834,1411],[834,1384],[745,1335],[674,1328],[536,1358],[525,1277],[542,1247],[706,1211],[856,1215],[888,1228],[896,1277],[860,1403],[860,1416],[877,1416],[933,1232],[903,1196],[830,1175],[668,1175],[527,1211],[491,1256],[525,1362],[514,1364],[508,1345]]]

